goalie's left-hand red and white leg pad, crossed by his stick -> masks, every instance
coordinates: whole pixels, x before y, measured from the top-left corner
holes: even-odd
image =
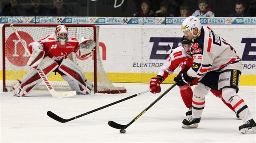
[[[58,64],[52,60],[50,57],[46,57],[43,59],[41,63],[41,68],[46,76],[50,76],[52,71],[58,67]],[[42,82],[41,77],[37,73],[37,69],[31,69],[28,73],[23,76],[21,80],[19,80],[13,87],[13,91],[15,96],[24,97],[28,93],[30,93],[34,88],[38,86],[39,83]]]

